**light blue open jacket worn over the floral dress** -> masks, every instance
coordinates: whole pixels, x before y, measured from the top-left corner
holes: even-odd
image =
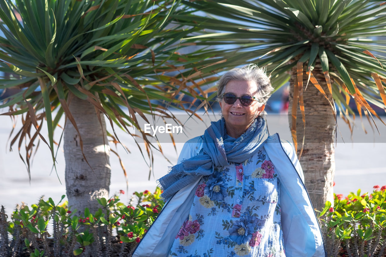
[[[322,233],[304,186],[303,171],[292,145],[281,141],[278,134],[263,144],[281,181],[281,227],[287,257],[325,257]],[[188,140],[178,162],[198,154],[203,148],[202,137]],[[157,219],[137,245],[133,257],[167,257],[181,224],[189,215],[198,179],[179,190],[165,204]]]

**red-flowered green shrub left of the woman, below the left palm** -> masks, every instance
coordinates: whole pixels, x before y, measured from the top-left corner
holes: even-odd
[[[86,208],[81,216],[75,216],[76,210],[66,202],[59,205],[64,195],[56,205],[49,198],[37,205],[18,206],[11,221],[2,207],[0,256],[62,257],[83,252],[88,256],[130,256],[164,202],[159,188],[154,193],[135,192],[129,205],[120,202],[119,195],[124,193],[120,190],[109,200],[98,199],[101,208],[95,213]]]

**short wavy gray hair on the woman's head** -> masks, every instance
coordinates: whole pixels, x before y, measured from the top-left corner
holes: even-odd
[[[266,104],[269,96],[274,90],[265,71],[255,64],[249,64],[242,68],[234,68],[223,74],[217,83],[217,101],[222,100],[225,86],[231,80],[254,81],[257,85],[257,100]]]

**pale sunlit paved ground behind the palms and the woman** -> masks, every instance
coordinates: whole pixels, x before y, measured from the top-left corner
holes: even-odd
[[[281,138],[290,139],[286,115],[268,115],[267,119],[271,133],[279,131]],[[352,142],[348,136],[347,126],[342,124],[341,120],[339,120],[339,124],[346,143],[341,143],[342,140],[340,137],[338,138],[335,154],[335,192],[347,195],[350,191],[356,192],[358,188],[361,188],[362,192],[366,192],[372,191],[372,187],[376,184],[385,185],[386,126],[378,124],[382,135],[380,137],[378,134],[374,135],[368,125],[366,127],[369,133],[365,135],[360,123],[358,123],[354,129],[354,142]],[[57,176],[55,171],[51,173],[52,162],[48,147],[41,142],[32,164],[31,180],[29,181],[27,170],[19,158],[17,146],[14,147],[13,152],[8,150],[7,139],[11,128],[10,118],[0,116],[0,205],[4,205],[9,213],[16,203],[21,203],[21,201],[28,204],[36,203],[42,195],[58,201],[61,195],[65,194],[63,152],[59,150],[56,166]],[[122,148],[119,149],[129,174],[129,188],[126,189],[124,175],[117,157],[112,156],[110,159],[112,166],[110,192],[117,192],[120,189],[128,191],[129,193],[122,198],[122,200],[128,201],[134,191],[153,190],[156,186],[156,178],[163,176],[171,164],[165,161],[160,154],[156,154],[154,177],[152,176],[151,180],[148,181],[149,169],[132,138],[124,132],[118,133],[122,142],[132,151],[132,154],[126,154]],[[46,132],[42,132],[42,134],[46,135]],[[163,143],[164,152],[173,164],[176,162],[177,152],[181,150],[182,145],[182,143],[178,143],[176,151],[172,144]],[[61,182],[59,182],[58,177]]]

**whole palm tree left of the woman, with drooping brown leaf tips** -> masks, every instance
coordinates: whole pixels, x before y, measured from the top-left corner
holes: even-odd
[[[179,3],[0,0],[0,29],[5,35],[0,37],[0,71],[10,74],[0,78],[0,90],[18,90],[0,108],[9,108],[2,115],[22,115],[23,123],[10,145],[18,142],[19,152],[25,145],[26,155],[20,157],[29,176],[39,138],[55,163],[54,144],[60,145],[62,137],[54,142],[53,134],[65,115],[66,191],[78,214],[85,207],[95,211],[96,198],[108,198],[105,117],[112,134],[116,127],[130,134],[130,127],[141,131],[143,155],[152,159],[152,144],[138,127],[136,114],[173,117],[168,105],[184,109],[176,96],[195,95],[193,88],[206,83],[186,86],[211,60],[205,51],[184,56],[176,52],[182,48],[179,40],[191,32],[173,27],[170,15],[178,14]],[[42,125],[47,125],[47,139],[40,133]]]

